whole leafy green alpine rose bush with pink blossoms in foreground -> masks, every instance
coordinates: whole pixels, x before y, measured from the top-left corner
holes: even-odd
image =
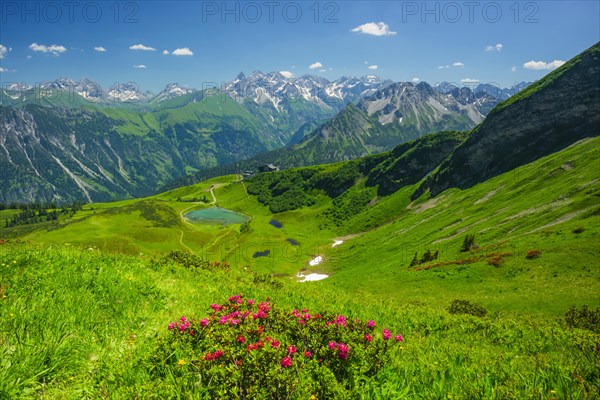
[[[202,397],[338,397],[377,374],[403,341],[372,320],[283,311],[268,298],[239,294],[209,310],[167,324],[153,357],[156,375],[175,376]]]

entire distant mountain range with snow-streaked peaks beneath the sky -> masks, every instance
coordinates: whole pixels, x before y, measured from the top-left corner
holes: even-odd
[[[220,88],[172,83],[158,94],[89,79],[7,85],[0,201],[144,196],[210,168],[237,172],[246,159],[250,167],[347,160],[437,130],[470,129],[500,100],[487,90],[373,75],[328,81],[259,71]]]

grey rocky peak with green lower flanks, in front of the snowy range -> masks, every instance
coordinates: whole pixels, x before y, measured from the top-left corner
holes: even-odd
[[[500,100],[485,90],[432,87],[426,82],[399,82],[348,103],[338,114],[284,148],[231,165],[202,170],[166,188],[265,164],[301,167],[380,153],[428,133],[469,130],[481,123]],[[298,135],[299,136],[299,135]]]

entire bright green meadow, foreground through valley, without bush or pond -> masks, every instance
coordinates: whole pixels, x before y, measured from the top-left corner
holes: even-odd
[[[599,145],[584,140],[432,199],[411,201],[408,186],[325,229],[325,194],[274,215],[233,175],[0,228],[0,399],[211,398],[191,365],[158,374],[153,356],[170,321],[203,318],[238,293],[402,333],[389,362],[339,398],[599,398],[598,323],[564,319],[571,306],[600,307]],[[210,203],[211,189],[215,205],[249,223],[182,218],[212,207],[185,201]],[[477,246],[461,252],[467,234]],[[344,242],[333,248],[335,239]],[[436,260],[409,266],[428,249]],[[231,267],[185,268],[166,261],[171,250]],[[310,267],[316,256],[324,261]],[[302,270],[330,276],[298,283]],[[487,314],[451,314],[456,299]],[[297,385],[291,398],[309,398]]]

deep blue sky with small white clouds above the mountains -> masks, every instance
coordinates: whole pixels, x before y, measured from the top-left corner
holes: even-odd
[[[261,70],[510,86],[600,40],[598,1],[73,3],[0,3],[3,85],[89,77],[157,92]]]

